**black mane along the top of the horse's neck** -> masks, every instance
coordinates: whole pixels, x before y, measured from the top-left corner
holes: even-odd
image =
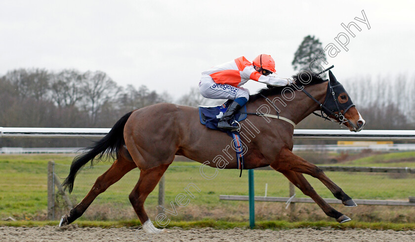
[[[301,80],[304,81],[308,81],[309,80],[309,75],[311,75],[311,81],[307,84],[303,84],[300,81],[300,78],[298,76],[299,73],[295,74],[292,76],[292,79],[295,80],[295,85],[297,85],[297,87],[301,87],[301,86],[311,86],[311,85],[315,85],[315,84],[320,84],[323,82],[326,82],[327,80],[323,80],[321,77],[319,77],[316,74],[310,74],[310,73],[301,73]],[[286,88],[286,86],[283,87],[273,87],[273,86],[269,86],[267,85],[267,88],[263,88],[261,90],[259,90],[258,93],[254,94],[254,95],[250,95],[249,96],[249,102],[251,101],[255,101],[258,98],[263,98],[262,96],[268,97],[268,96],[272,96],[272,95],[280,95],[282,94],[284,88]]]

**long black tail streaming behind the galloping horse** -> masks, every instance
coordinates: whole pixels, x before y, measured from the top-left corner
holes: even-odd
[[[85,150],[87,150],[86,153],[75,157],[72,161],[69,175],[62,183],[64,191],[68,189],[69,193],[72,193],[72,189],[74,189],[75,177],[80,169],[89,161],[91,161],[92,165],[93,160],[99,160],[105,154],[112,157],[118,157],[120,146],[124,144],[124,126],[129,116],[131,116],[131,113],[132,111],[125,114],[120,120],[118,120],[104,138],[98,142],[95,142],[94,145],[85,148]]]

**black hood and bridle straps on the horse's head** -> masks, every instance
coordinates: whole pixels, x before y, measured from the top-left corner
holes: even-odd
[[[333,67],[334,65],[318,73],[317,75],[319,76],[320,74],[332,69]],[[330,118],[330,116],[333,115],[334,117],[338,118],[338,120],[340,121],[340,126],[349,121],[347,118],[344,117],[344,114],[347,112],[347,110],[349,110],[349,108],[355,105],[353,104],[350,97],[348,97],[348,100],[345,103],[340,103],[337,100],[336,94],[346,93],[346,91],[344,90],[343,85],[337,82],[332,71],[329,71],[329,83],[327,86],[326,97],[323,103],[321,103],[316,98],[311,96],[307,91],[305,91],[304,88],[301,91],[303,91],[308,97],[310,97],[311,99],[313,99],[315,102],[317,102],[320,105],[321,114],[313,112],[314,115],[317,115],[324,119],[338,123],[338,121],[334,121]],[[326,114],[327,116],[324,116],[324,114]]]

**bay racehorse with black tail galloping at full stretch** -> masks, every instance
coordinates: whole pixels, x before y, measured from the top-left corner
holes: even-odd
[[[349,221],[349,217],[329,205],[304,178],[303,174],[308,174],[319,179],[345,206],[356,206],[352,198],[334,184],[322,169],[292,153],[292,124],[298,124],[317,110],[322,111],[321,116],[324,112],[327,119],[341,123],[354,132],[363,128],[365,120],[331,71],[329,80],[309,73],[301,73],[294,78],[297,80],[291,86],[270,87],[250,96],[247,113],[257,115],[250,115],[250,124],[246,119],[241,126],[254,125],[259,135],[249,141],[243,139],[246,145],[244,169],[271,166],[284,174],[302,193],[310,196],[328,216],[340,223]],[[281,109],[278,115],[292,124],[261,115],[264,108],[268,111]],[[144,201],[173,162],[174,156],[183,155],[217,167],[214,158],[230,144],[231,139],[226,133],[201,125],[198,108],[195,107],[159,103],[125,114],[104,138],[73,160],[69,175],[62,184],[69,192],[73,190],[75,176],[86,163],[106,155],[116,158],[111,167],[97,178],[82,201],[62,216],[60,226],[79,218],[98,194],[138,167],[140,177],[129,194],[129,200],[145,232],[159,233],[162,230],[153,226],[144,209]],[[237,169],[236,153],[228,152],[227,156],[224,168]]]

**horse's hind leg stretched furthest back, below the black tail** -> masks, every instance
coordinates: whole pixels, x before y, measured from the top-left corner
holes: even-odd
[[[72,208],[71,211],[69,211],[69,214],[62,216],[59,226],[70,224],[81,217],[95,197],[103,193],[111,185],[118,182],[127,172],[136,167],[137,165],[134,162],[120,156],[104,174],[96,179],[91,190],[86,194],[82,201]]]

